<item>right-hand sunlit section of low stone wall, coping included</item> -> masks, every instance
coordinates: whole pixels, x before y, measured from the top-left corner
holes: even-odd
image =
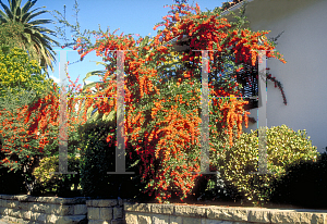
[[[126,224],[327,224],[327,210],[124,203]]]

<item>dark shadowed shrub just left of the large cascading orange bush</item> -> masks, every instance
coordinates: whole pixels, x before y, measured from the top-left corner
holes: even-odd
[[[125,157],[126,172],[130,174],[107,174],[116,172],[116,120],[96,121],[80,128],[81,135],[81,187],[85,197],[134,198],[143,185],[138,167],[130,167],[132,162]],[[109,135],[109,137],[108,137]],[[110,138],[111,137],[111,138]]]

